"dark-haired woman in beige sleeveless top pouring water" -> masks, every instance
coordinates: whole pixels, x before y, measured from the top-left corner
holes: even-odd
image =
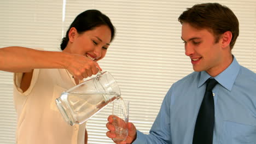
[[[85,124],[69,125],[55,99],[101,70],[97,61],[106,55],[114,34],[106,15],[86,10],[62,39],[62,52],[17,46],[0,49],[0,70],[14,73],[17,143],[87,143]]]

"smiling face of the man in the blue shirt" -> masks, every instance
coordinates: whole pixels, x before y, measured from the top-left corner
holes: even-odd
[[[221,40],[215,43],[214,35],[208,29],[196,29],[189,23],[182,24],[182,39],[185,55],[189,56],[195,71],[206,71],[214,75],[222,69],[224,52]]]

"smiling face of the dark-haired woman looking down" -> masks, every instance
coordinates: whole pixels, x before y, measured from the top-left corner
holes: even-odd
[[[69,42],[64,52],[84,55],[92,61],[99,61],[107,52],[111,31],[108,26],[101,25],[81,34],[72,27],[69,31]]]

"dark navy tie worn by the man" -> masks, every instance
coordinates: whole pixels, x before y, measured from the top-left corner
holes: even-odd
[[[206,81],[206,91],[197,115],[193,144],[211,144],[214,128],[214,100],[212,89],[217,85],[215,79]]]

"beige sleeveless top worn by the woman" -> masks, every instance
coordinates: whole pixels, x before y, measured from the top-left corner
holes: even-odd
[[[85,123],[69,125],[55,104],[63,91],[75,86],[66,69],[34,69],[31,85],[20,89],[23,73],[14,73],[14,104],[18,114],[18,144],[82,144]]]

